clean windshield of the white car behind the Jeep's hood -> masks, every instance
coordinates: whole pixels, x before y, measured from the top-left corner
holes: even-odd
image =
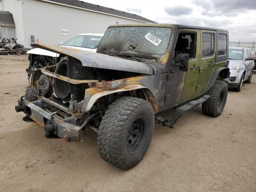
[[[76,35],[74,37],[67,39],[60,45],[96,49],[101,39],[102,36]]]

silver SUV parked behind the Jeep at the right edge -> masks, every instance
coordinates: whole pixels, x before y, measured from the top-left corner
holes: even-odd
[[[252,80],[252,70],[254,68],[252,54],[248,48],[229,47],[228,60],[230,70],[228,87],[239,92],[243,82],[250,83]]]

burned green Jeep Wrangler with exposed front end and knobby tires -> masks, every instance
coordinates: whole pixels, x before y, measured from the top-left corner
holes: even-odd
[[[16,112],[44,127],[46,138],[82,141],[98,133],[100,156],[128,170],[145,155],[154,124],[170,128],[202,104],[217,117],[228,94],[228,31],[178,24],[110,26],[97,53],[33,44],[60,54],[34,72]],[[175,112],[166,120],[159,113]]]

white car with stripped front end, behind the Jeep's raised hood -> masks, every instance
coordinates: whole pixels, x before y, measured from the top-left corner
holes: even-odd
[[[64,42],[61,42],[59,46],[96,52],[103,35],[104,34],[101,33],[77,34],[71,38],[68,38]],[[41,48],[31,49],[27,53],[30,65],[26,69],[26,72],[32,85],[39,79],[40,75],[42,74],[40,72],[42,67],[54,65],[60,60],[58,53]],[[33,75],[31,75],[32,73]]]

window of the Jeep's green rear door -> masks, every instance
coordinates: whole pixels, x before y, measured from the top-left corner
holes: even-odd
[[[202,57],[213,56],[214,53],[214,34],[202,34]]]

